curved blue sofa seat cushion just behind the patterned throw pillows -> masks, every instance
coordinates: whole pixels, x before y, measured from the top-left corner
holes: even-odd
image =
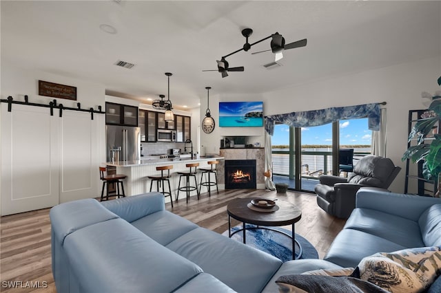
[[[303,272],[309,272],[312,270],[338,270],[341,269],[340,265],[324,261],[322,259],[296,259],[295,261],[286,261],[280,266],[276,274],[267,283],[262,293],[274,293],[278,292],[278,285],[276,280],[280,276],[287,274],[302,274]]]

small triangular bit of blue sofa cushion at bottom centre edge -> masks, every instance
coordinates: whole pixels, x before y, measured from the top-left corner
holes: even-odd
[[[232,288],[228,287],[211,274],[198,274],[193,279],[185,283],[174,293],[197,293],[197,292],[209,292],[209,293],[232,293],[236,292]]]

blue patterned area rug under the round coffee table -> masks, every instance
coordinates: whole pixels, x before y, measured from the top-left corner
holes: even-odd
[[[247,232],[247,245],[257,248],[258,250],[263,250],[274,257],[277,257],[281,261],[291,261],[292,260],[292,241],[291,237],[287,235],[283,235],[282,233],[275,232],[267,229],[249,229],[252,227],[256,227],[254,225],[246,225]],[[238,225],[232,228],[232,232],[242,229],[242,225]],[[291,231],[279,228],[279,227],[268,227],[273,230],[278,230],[280,232],[285,232],[288,235],[291,235]],[[242,234],[243,232],[237,232],[232,236],[232,239],[243,242]],[[228,237],[228,230],[223,232],[222,235]],[[296,234],[296,240],[302,246],[302,255],[300,259],[318,259],[318,252],[314,246],[312,246],[307,239],[301,237]],[[298,257],[298,252],[300,249],[296,243],[296,258]]]

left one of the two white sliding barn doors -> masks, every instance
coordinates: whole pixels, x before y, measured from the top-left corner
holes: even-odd
[[[1,215],[59,203],[59,117],[48,108],[1,105]]]

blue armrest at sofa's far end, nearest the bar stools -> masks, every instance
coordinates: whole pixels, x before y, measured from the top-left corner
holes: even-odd
[[[101,202],[101,204],[129,223],[145,215],[156,213],[159,210],[165,210],[164,195],[156,192],[123,197]]]

